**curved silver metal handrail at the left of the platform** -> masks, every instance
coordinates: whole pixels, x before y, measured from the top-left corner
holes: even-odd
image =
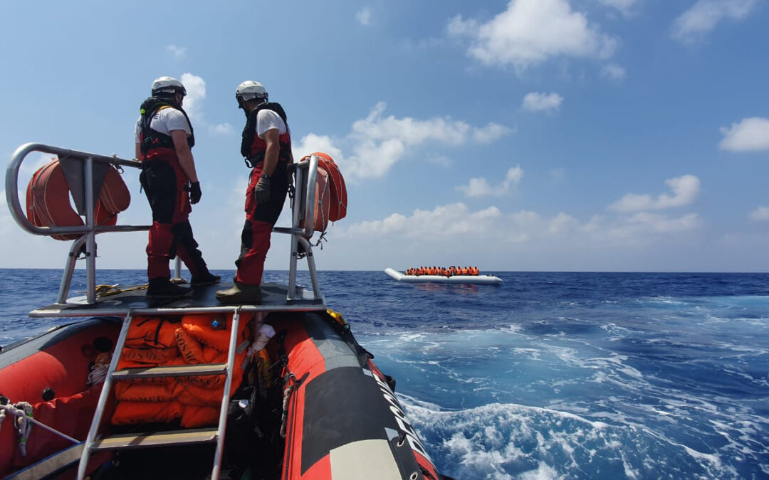
[[[85,163],[83,170],[83,194],[85,200],[85,225],[76,227],[38,227],[29,221],[22,209],[22,204],[18,200],[18,170],[28,154],[33,151],[44,154],[54,154],[60,160],[67,158],[79,160]],[[107,157],[105,155],[91,154],[84,151],[70,150],[68,148],[53,147],[52,145],[29,143],[18,147],[11,156],[8,168],[5,170],[5,200],[8,203],[8,210],[11,210],[11,216],[18,223],[19,227],[33,235],[52,236],[58,234],[75,234],[78,238],[72,243],[64,272],[62,273],[62,283],[59,285],[58,297],[56,303],[63,304],[67,301],[69,286],[72,281],[72,273],[75,270],[75,261],[78,252],[85,243],[85,270],[86,270],[86,291],[85,295],[88,303],[96,301],[96,233],[102,232],[133,232],[149,230],[149,225],[96,225],[94,220],[94,207],[96,198],[93,191],[93,168],[94,162],[101,162],[110,165],[120,165],[125,167],[141,168],[141,163],[135,160],[125,160],[118,157]],[[97,193],[98,194],[98,193]]]

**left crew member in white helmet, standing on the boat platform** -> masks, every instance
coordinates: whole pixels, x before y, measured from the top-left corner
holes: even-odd
[[[151,97],[141,104],[135,127],[135,154],[141,161],[139,181],[152,210],[147,243],[150,298],[175,298],[191,290],[171,283],[168,261],[178,255],[189,269],[192,286],[220,280],[208,271],[189,223],[191,204],[201,198],[191,147],[195,136],[181,108],[187,91],[181,81],[160,77]]]

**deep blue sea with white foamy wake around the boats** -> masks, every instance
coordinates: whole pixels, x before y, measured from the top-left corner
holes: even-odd
[[[0,345],[64,322],[26,316],[55,300],[58,270],[0,274]],[[501,286],[320,273],[441,472],[769,478],[769,274],[494,274]]]

